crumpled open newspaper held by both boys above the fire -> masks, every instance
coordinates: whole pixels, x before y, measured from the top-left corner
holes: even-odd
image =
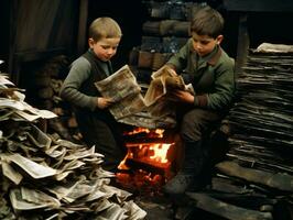
[[[154,72],[154,80],[144,96],[128,65],[95,85],[104,97],[115,101],[109,110],[117,121],[149,129],[173,128],[176,125],[175,108],[167,96],[167,76],[172,77],[174,74],[165,67]],[[183,89],[193,91],[191,85],[184,85],[182,78],[181,81]]]

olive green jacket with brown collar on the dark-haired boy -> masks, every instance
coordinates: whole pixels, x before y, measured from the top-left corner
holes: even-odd
[[[236,88],[235,62],[220,46],[199,57],[189,38],[166,65],[174,67],[185,84],[193,85],[196,107],[220,111],[230,107]]]

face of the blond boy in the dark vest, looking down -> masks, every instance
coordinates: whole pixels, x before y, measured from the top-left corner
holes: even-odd
[[[120,43],[120,37],[101,38],[95,42],[94,38],[89,38],[88,44],[100,61],[108,62],[117,53],[117,47]]]

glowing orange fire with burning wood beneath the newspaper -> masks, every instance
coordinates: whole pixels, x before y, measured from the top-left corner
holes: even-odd
[[[116,174],[118,183],[131,189],[160,191],[172,176],[169,150],[175,140],[172,135],[172,140],[167,141],[164,132],[162,129],[135,128],[123,134],[129,140],[126,143],[128,153],[118,166],[121,170]]]

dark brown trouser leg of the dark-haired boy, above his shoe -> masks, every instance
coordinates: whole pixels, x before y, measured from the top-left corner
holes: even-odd
[[[193,166],[195,166],[194,170],[196,170],[197,186],[206,185],[210,182],[214,158],[211,145],[208,144],[209,136],[211,131],[219,125],[221,119],[221,114],[210,110],[196,108],[183,111],[180,133],[185,145],[186,163],[194,164],[196,161],[196,165]],[[194,154],[188,152],[194,152]],[[191,155],[186,155],[186,153]],[[191,156],[193,158],[189,158],[188,162]],[[183,165],[183,168],[186,167]]]

